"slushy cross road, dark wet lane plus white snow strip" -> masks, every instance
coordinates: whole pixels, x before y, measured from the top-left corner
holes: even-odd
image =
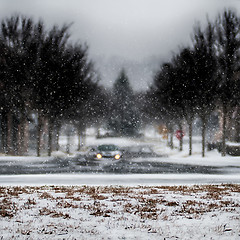
[[[164,162],[164,157],[119,161],[70,158],[1,159],[0,185],[168,185],[240,183],[239,166]]]

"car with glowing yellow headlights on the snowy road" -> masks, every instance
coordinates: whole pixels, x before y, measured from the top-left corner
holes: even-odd
[[[88,158],[103,159],[112,158],[119,160],[122,157],[122,151],[114,144],[103,144],[92,147],[88,152]]]

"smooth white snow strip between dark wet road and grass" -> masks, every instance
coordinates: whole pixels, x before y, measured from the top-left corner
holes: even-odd
[[[239,174],[27,174],[1,175],[2,186],[41,185],[181,185],[240,183]]]

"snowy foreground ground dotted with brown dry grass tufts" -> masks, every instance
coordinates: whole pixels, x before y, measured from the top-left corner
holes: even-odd
[[[240,185],[0,188],[1,239],[239,239]]]

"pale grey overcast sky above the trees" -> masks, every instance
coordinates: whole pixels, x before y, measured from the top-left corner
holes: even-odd
[[[86,42],[102,83],[127,69],[132,86],[146,89],[160,61],[188,45],[194,23],[240,0],[0,0],[0,17],[22,13],[48,25],[71,23],[73,41]]]

